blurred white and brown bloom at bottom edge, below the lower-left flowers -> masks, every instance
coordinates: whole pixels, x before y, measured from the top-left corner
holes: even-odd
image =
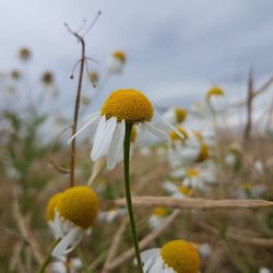
[[[79,258],[66,257],[59,258],[57,262],[54,262],[51,265],[52,273],[76,273],[82,269],[83,263]]]

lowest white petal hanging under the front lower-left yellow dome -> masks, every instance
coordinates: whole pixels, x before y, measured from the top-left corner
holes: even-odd
[[[72,228],[57,246],[51,256],[59,258],[72,251],[83,237],[83,232],[80,228]],[[69,248],[70,247],[70,248]]]

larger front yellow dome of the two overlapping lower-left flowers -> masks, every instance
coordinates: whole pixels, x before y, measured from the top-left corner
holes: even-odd
[[[88,228],[97,215],[97,195],[85,186],[70,188],[62,193],[57,210],[64,219],[82,228]]]

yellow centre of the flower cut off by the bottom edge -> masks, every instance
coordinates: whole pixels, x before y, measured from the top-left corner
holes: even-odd
[[[198,273],[200,258],[198,249],[185,241],[173,240],[161,250],[163,261],[177,273]]]

